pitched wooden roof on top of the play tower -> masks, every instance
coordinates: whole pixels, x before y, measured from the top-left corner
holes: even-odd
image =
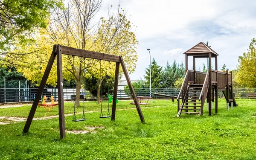
[[[208,47],[204,42],[200,42],[199,44],[195,45],[194,47],[190,48],[189,50],[187,50],[186,52],[184,52],[184,54],[208,54],[208,53],[213,53],[213,56],[217,56],[218,53],[216,53],[214,50],[212,50],[210,47]]]

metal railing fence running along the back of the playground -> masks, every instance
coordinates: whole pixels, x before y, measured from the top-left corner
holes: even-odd
[[[37,88],[26,88],[26,89],[19,89],[19,88],[0,88],[0,103],[5,102],[26,102],[26,101],[33,101],[35,99],[35,95],[37,93]],[[134,88],[134,91],[137,96],[150,96],[149,88],[146,89],[137,89]],[[71,100],[71,95],[76,95],[76,89],[72,88],[64,88],[64,99]],[[180,89],[177,88],[166,88],[166,89],[156,89],[152,88],[151,92],[153,93],[161,93],[166,95],[178,96]],[[256,93],[256,88],[237,88],[233,89],[235,94],[235,98],[247,98],[247,93]],[[93,100],[96,99],[95,96],[92,96],[90,92],[81,89],[80,94],[84,95],[87,99]],[[54,88],[45,88],[43,91],[43,96],[54,96],[55,100],[58,100],[58,89]],[[151,94],[153,98],[165,98],[164,96],[158,96]],[[219,98],[224,98],[224,95],[221,91],[218,92]],[[117,98],[119,99],[129,99],[131,98],[131,93],[129,90],[125,89],[118,89],[117,90]]]

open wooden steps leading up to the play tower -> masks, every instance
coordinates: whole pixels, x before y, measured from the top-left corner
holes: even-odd
[[[183,99],[177,116],[181,113],[201,115],[202,103],[200,102],[200,94],[203,84],[188,84],[185,98]]]

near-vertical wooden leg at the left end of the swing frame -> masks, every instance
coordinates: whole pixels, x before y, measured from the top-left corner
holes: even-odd
[[[62,55],[61,45],[57,45],[57,85],[58,85],[58,109],[59,109],[59,126],[60,138],[66,137],[65,116],[64,116],[64,95],[63,95],[63,78],[62,78]]]

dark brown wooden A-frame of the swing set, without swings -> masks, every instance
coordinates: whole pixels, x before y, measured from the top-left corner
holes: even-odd
[[[55,44],[53,46],[52,54],[49,58],[49,62],[47,64],[47,67],[45,69],[42,81],[39,85],[38,91],[35,96],[35,100],[32,104],[32,107],[29,112],[29,116],[26,120],[26,124],[23,128],[23,133],[28,133],[29,127],[32,123],[32,119],[35,115],[35,111],[37,109],[38,103],[41,98],[41,94],[43,93],[44,86],[46,84],[46,81],[48,79],[49,73],[51,71],[52,65],[54,63],[55,58],[57,57],[57,85],[58,85],[58,111],[59,111],[59,126],[60,126],[60,138],[66,137],[66,130],[65,130],[65,119],[64,119],[64,94],[63,94],[63,77],[62,77],[62,54],[64,55],[73,55],[73,56],[79,56],[84,58],[92,58],[92,59],[99,59],[104,61],[112,61],[116,62],[116,71],[115,71],[115,81],[114,81],[114,93],[113,93],[113,105],[112,105],[112,114],[111,114],[111,120],[115,120],[116,116],[116,96],[117,96],[117,86],[118,86],[118,76],[119,76],[119,66],[121,64],[122,70],[124,72],[125,78],[127,80],[128,86],[131,90],[131,95],[134,98],[134,102],[138,111],[138,114],[140,116],[140,121],[145,122],[145,119],[143,117],[143,113],[140,109],[140,105],[137,99],[137,96],[135,94],[134,88],[131,84],[131,80],[128,75],[128,71],[125,67],[125,63],[123,61],[122,56],[117,55],[109,55],[99,52],[93,52],[83,49],[76,49],[72,47],[66,47],[61,46],[60,44]]]

